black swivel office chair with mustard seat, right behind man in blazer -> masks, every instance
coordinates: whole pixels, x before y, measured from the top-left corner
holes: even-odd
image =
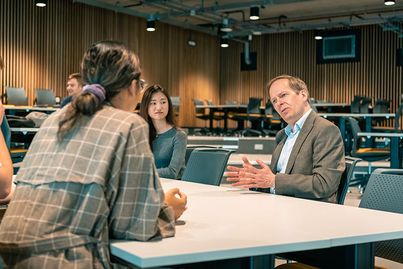
[[[348,117],[350,123],[350,128],[353,136],[353,146],[350,155],[356,158],[361,158],[368,162],[368,175],[371,175],[371,162],[375,160],[386,159],[390,157],[390,148],[372,148],[372,147],[361,147],[361,137],[358,137],[358,133],[361,132],[358,121],[352,117]],[[361,193],[364,190],[364,186],[368,181],[368,177],[363,177],[360,179],[355,179],[351,181],[351,186],[356,186],[361,189]]]

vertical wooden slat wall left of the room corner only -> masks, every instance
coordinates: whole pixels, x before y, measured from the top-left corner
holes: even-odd
[[[83,53],[95,41],[118,40],[138,53],[142,74],[149,85],[160,84],[172,96],[181,96],[179,124],[204,126],[194,117],[192,98],[219,96],[219,38],[157,23],[146,31],[146,20],[73,3],[48,1],[45,8],[34,0],[0,1],[0,55],[6,68],[0,89],[24,87],[29,104],[35,88],[53,89],[65,97],[66,79],[79,72]],[[188,46],[187,41],[196,41]]]

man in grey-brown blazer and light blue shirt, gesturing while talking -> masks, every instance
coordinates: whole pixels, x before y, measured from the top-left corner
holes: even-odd
[[[256,159],[261,169],[254,168],[243,157],[243,168],[228,167],[235,173],[227,173],[227,181],[267,193],[336,202],[346,169],[339,128],[312,111],[301,79],[282,75],[268,82],[266,89],[288,126],[276,135],[270,167]]]

